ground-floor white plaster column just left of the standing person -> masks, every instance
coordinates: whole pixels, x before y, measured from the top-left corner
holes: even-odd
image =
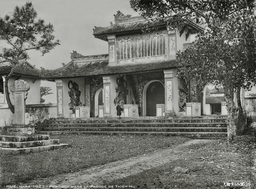
[[[104,103],[104,117],[111,117],[111,105],[110,105],[110,76],[103,77],[103,103]]]

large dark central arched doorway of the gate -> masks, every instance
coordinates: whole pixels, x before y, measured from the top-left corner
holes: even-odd
[[[156,116],[156,104],[164,104],[164,85],[160,81],[149,82],[145,86],[144,93],[145,96],[145,108],[146,116]]]

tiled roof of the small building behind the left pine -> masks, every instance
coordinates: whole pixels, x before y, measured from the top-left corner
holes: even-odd
[[[0,76],[7,75],[10,73],[12,66],[9,62],[0,62]],[[14,71],[14,75],[27,76],[27,77],[39,77],[40,70],[33,67],[28,62],[25,65],[19,66]]]

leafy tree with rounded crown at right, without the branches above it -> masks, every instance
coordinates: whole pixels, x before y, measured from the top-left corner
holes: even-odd
[[[225,100],[229,112],[228,137],[242,134],[240,125],[236,128],[236,107],[233,94],[237,92],[240,101],[240,88],[249,89],[256,81],[256,16],[250,12],[237,12],[220,22],[216,19],[211,30],[198,35],[190,48],[179,53],[178,76],[185,73],[195,78],[200,91],[207,83],[223,85]],[[190,65],[189,67],[187,65]],[[239,104],[238,121],[243,111]]]

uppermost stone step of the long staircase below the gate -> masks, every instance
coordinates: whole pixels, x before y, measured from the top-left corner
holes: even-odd
[[[48,124],[87,124],[87,123],[225,123],[227,119],[225,118],[215,118],[215,119],[191,119],[191,118],[172,118],[172,119],[131,119],[131,118],[121,118],[121,119],[58,119],[52,120]],[[47,124],[47,125],[48,125]]]

